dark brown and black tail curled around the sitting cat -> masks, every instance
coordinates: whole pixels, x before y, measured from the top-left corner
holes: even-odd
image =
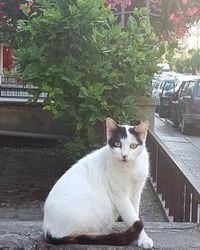
[[[127,246],[138,238],[139,233],[143,229],[142,221],[135,223],[125,232],[110,234],[84,234],[79,236],[67,236],[63,238],[53,238],[50,234],[46,235],[46,241],[54,244],[83,244],[83,245],[113,245]]]

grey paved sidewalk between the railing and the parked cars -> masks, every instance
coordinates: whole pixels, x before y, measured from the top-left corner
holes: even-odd
[[[169,121],[157,115],[154,132],[170,149],[181,171],[200,193],[200,149],[184,135],[176,133]]]

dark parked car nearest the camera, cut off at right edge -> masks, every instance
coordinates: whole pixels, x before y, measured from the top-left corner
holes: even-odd
[[[171,103],[171,120],[183,134],[200,127],[200,77],[182,82]]]

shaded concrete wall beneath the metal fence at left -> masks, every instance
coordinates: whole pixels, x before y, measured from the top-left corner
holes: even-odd
[[[23,103],[0,104],[0,130],[61,136],[69,133],[67,124],[54,120],[50,112],[42,110],[41,105]]]

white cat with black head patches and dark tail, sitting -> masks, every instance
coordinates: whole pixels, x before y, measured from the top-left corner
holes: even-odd
[[[44,205],[43,232],[52,244],[153,247],[139,219],[149,171],[149,122],[118,125],[106,119],[107,145],[75,163],[54,185]],[[112,233],[121,216],[127,230]]]

